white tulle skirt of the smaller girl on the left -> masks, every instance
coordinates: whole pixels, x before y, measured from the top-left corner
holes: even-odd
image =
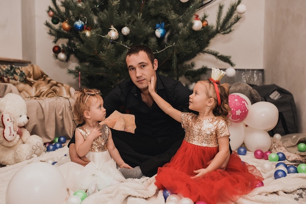
[[[86,156],[90,161],[86,166],[70,161],[57,165],[69,190],[82,189],[90,195],[111,184],[125,181],[109,151],[88,152]]]

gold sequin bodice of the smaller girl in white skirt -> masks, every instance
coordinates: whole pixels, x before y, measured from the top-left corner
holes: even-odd
[[[82,126],[77,127],[76,129],[80,131],[84,140],[86,140],[87,136],[90,134],[90,130]],[[109,126],[107,124],[103,124],[100,131],[103,133],[103,135],[93,140],[89,149],[90,152],[104,152],[108,149],[107,143],[109,139]]]

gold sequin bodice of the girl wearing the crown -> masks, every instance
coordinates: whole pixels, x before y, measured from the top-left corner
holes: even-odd
[[[218,117],[199,119],[196,114],[182,113],[184,140],[198,146],[218,147],[218,138],[230,135],[226,122]]]

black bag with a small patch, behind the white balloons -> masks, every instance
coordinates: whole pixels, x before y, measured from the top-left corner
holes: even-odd
[[[279,133],[282,136],[298,132],[298,119],[293,95],[275,84],[253,86],[259,93],[262,101],[273,103],[279,110],[279,119],[276,126],[268,131],[272,137]]]

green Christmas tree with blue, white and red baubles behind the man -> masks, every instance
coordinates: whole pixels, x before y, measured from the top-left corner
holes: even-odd
[[[214,1],[214,0],[211,0]],[[207,67],[194,69],[198,54],[208,54],[234,66],[230,56],[208,49],[217,35],[226,35],[240,20],[236,12],[241,0],[232,2],[224,14],[219,4],[216,24],[207,14],[198,16],[203,0],[52,0],[45,22],[54,37],[55,59],[78,60],[68,74],[80,78],[82,85],[107,94],[116,84],[129,78],[125,63],[133,44],[152,48],[158,72],[175,79],[196,82]],[[59,4],[58,4],[59,3]],[[59,40],[65,43],[57,44]]]

